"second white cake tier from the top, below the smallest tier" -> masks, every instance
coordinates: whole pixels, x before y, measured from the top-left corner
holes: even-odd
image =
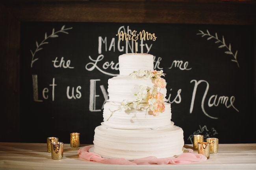
[[[122,102],[124,99],[128,102],[136,100],[136,93],[140,91],[140,86],[157,88],[153,79],[145,80],[143,78],[133,78],[132,76],[117,76],[108,80],[108,96],[111,102]],[[158,88],[160,93],[166,98],[166,88]]]

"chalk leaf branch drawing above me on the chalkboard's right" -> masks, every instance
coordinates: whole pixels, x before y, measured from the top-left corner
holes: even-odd
[[[217,43],[221,43],[222,45],[219,46],[219,48],[227,48],[228,51],[225,51],[226,54],[229,54],[229,55],[233,55],[233,57],[235,58],[234,60],[231,60],[231,61],[234,61],[237,63],[237,66],[239,67],[239,64],[237,62],[237,50],[236,50],[236,53],[234,54],[232,51],[231,51],[231,44],[229,44],[229,46],[226,45],[225,43],[225,40],[224,40],[224,36],[222,36],[222,41],[218,38],[218,35],[217,33],[215,33],[215,37],[213,35],[211,35],[208,31],[208,29],[206,30],[207,33],[204,33],[203,31],[199,30],[200,33],[197,33],[197,35],[202,35],[202,37],[204,36],[208,36],[207,40],[210,40],[211,38],[217,40],[215,41],[215,44]]]

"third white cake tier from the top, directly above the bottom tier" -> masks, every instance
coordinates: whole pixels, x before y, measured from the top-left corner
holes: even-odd
[[[106,102],[103,118],[105,126],[119,129],[160,128],[173,124],[171,122],[171,104],[165,103],[165,111],[158,116],[152,115],[149,110],[122,110],[120,103]],[[115,111],[115,112],[113,112]],[[111,115],[113,113],[113,115]]]

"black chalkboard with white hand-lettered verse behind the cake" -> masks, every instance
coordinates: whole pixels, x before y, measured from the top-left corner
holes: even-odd
[[[172,121],[185,143],[193,134],[255,143],[253,26],[91,22],[21,22],[21,141],[69,143],[79,132],[81,143],[93,143],[118,56],[135,52],[116,34],[143,29],[157,39],[137,41],[137,53],[154,55],[154,69],[166,73]]]

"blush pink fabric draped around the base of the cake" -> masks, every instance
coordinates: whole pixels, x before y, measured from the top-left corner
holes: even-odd
[[[207,158],[202,154],[184,153],[178,157],[156,158],[149,156],[145,158],[135,159],[134,161],[128,161],[124,158],[102,158],[100,155],[93,152],[89,152],[92,146],[85,146],[78,150],[79,157],[87,161],[94,161],[98,163],[117,164],[117,165],[150,165],[150,164],[187,164],[192,162],[205,161]],[[189,152],[193,152],[192,149],[188,149]]]

